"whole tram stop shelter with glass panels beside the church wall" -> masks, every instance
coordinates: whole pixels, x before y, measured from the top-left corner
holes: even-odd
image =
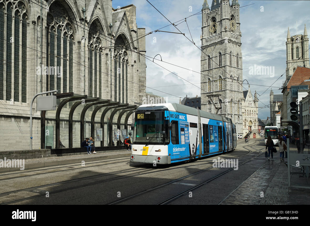
[[[51,149],[51,154],[86,152],[81,147],[86,137],[94,139],[96,151],[125,149],[122,141],[128,136],[137,105],[73,92],[54,95],[56,110],[41,111],[42,149]]]

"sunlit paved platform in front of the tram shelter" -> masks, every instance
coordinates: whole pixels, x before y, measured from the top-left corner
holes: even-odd
[[[92,162],[98,160],[116,159],[122,157],[128,157],[131,155],[131,151],[114,151],[114,152],[100,152],[98,154],[82,154],[72,156],[55,156],[47,158],[26,159],[24,169],[44,168],[50,166],[59,166],[67,164],[75,164],[85,162]],[[0,173],[17,171],[20,168],[0,168]]]

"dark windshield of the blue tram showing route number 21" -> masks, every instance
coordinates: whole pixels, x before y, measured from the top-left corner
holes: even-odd
[[[168,122],[164,111],[143,111],[135,113],[135,139],[137,144],[168,144]],[[166,131],[166,140],[162,135]]]

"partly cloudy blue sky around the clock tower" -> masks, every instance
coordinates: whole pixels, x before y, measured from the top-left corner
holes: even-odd
[[[204,0],[149,0],[149,2],[172,23],[195,13],[198,13],[198,15],[187,19],[188,27],[185,22],[177,26],[190,40],[192,40],[191,36],[193,37],[196,46],[182,34],[153,32],[146,36],[147,56],[153,58],[155,55],[160,54],[163,61],[186,68],[183,69],[161,62],[160,56],[157,56],[157,60],[154,60],[157,64],[153,63],[152,60],[146,60],[146,86],[149,87],[147,92],[153,92],[156,95],[165,97],[167,103],[179,103],[179,97],[182,100],[186,95],[188,97],[200,96],[201,50],[197,47],[201,47],[202,22],[199,13],[201,13]],[[307,25],[308,33],[310,32],[310,1],[239,0],[238,2],[240,4],[240,30],[242,33],[243,79],[246,79],[250,84],[253,96],[255,90],[259,94],[258,106],[263,108],[259,108],[258,117],[266,119],[270,117],[270,109],[264,108],[265,105],[269,104],[270,89],[272,88],[274,94],[281,94],[281,86],[285,80],[287,29],[290,28],[291,36],[296,35],[297,22],[298,34],[303,34],[304,24]],[[211,3],[212,0],[209,0],[209,6]],[[112,1],[113,8],[130,4],[136,6],[138,28],[145,28],[146,33],[170,24],[146,0]],[[160,30],[179,32],[172,25]],[[274,68],[274,73],[269,73],[270,75],[252,75],[250,69],[251,67],[255,68],[255,65],[256,67],[268,66],[271,69]],[[284,75],[280,77],[282,74]],[[268,88],[272,83],[274,83],[272,87]],[[243,83],[243,87],[244,90],[245,88],[248,89],[246,81]]]

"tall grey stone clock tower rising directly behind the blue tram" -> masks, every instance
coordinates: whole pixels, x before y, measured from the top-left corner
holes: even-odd
[[[242,53],[239,3],[213,0],[202,6],[201,109],[231,117],[242,127]],[[218,97],[208,97],[220,95]],[[211,103],[210,99],[216,105]],[[239,130],[240,129],[240,130]]]

